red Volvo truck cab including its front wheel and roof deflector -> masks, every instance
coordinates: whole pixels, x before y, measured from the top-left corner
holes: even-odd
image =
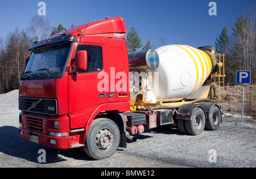
[[[19,87],[19,136],[57,149],[84,146],[95,159],[126,147],[125,32],[123,19],[112,18],[32,44]]]

